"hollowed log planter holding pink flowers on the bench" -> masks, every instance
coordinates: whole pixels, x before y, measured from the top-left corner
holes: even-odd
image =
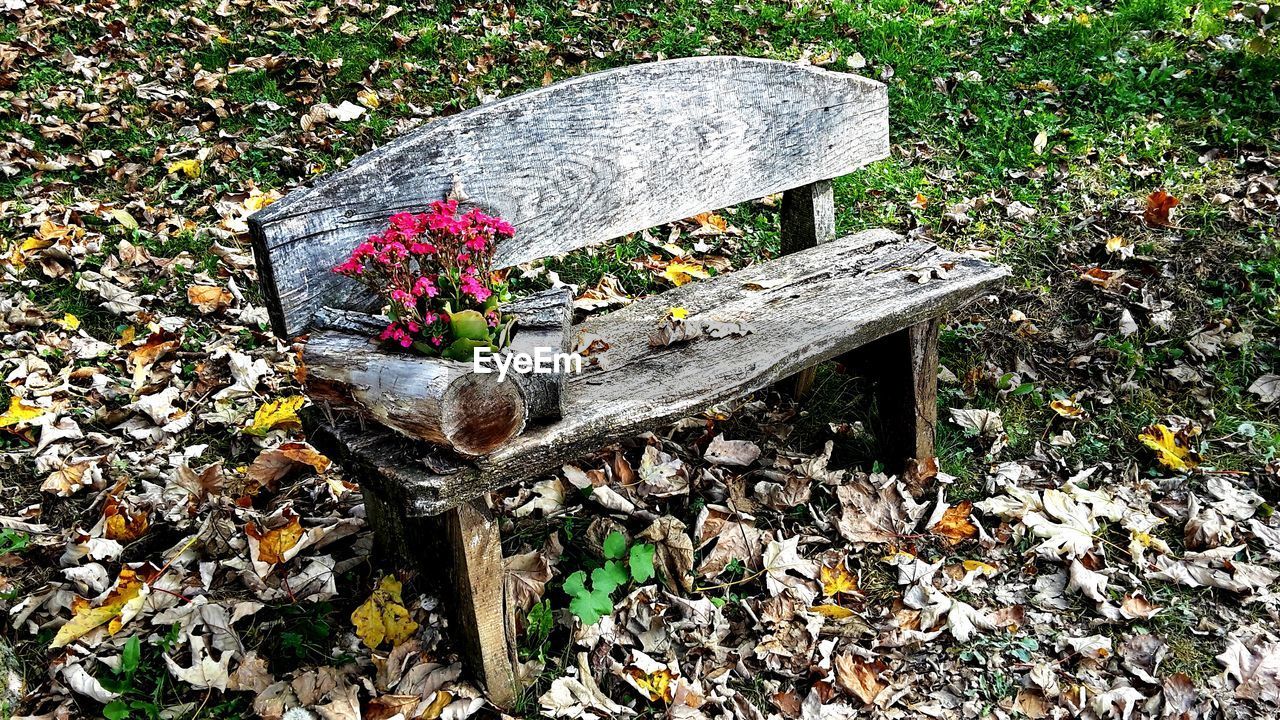
[[[470,363],[383,352],[365,334],[312,333],[302,363],[312,400],[463,455],[492,451],[529,419],[517,383],[474,373]]]

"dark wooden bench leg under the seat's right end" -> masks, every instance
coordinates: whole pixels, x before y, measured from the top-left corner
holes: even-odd
[[[891,473],[916,473],[934,461],[938,425],[938,320],[882,337],[859,351],[872,365],[881,446]]]

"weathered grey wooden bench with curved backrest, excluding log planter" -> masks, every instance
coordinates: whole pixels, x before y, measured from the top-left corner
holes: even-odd
[[[803,384],[815,364],[864,346],[881,375],[886,460],[902,469],[932,459],[938,318],[1005,272],[888,231],[836,240],[831,178],[887,154],[881,83],[694,58],[589,74],[430,123],[251,218],[274,329],[292,338],[324,307],[370,310],[329,268],[393,213],[458,183],[517,228],[498,266],[783,192],[782,256],[573,328],[607,350],[570,379],[559,420],[474,460],[349,418],[315,423],[312,441],[358,477],[384,548],[428,560],[426,538],[448,538],[453,626],[494,703],[509,706],[517,687],[488,491],[787,377]],[[650,347],[673,306],[751,332]]]

